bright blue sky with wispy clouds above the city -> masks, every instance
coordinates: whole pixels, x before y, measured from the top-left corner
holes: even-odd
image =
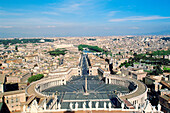
[[[0,37],[170,31],[170,0],[0,0]]]

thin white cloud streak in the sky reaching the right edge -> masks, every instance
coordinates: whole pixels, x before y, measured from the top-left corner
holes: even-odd
[[[159,19],[168,19],[170,17],[161,17],[161,16],[132,16],[132,17],[127,17],[127,18],[118,18],[118,19],[111,19],[109,20],[110,22],[121,22],[121,21],[138,21],[138,20],[159,20]]]

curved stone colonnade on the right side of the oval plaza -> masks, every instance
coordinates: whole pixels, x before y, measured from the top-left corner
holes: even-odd
[[[123,78],[118,76],[106,77],[106,83],[108,84],[118,84],[125,87],[129,87],[131,92],[121,93],[118,92],[117,96],[122,100],[128,100],[133,105],[141,106],[145,103],[147,99],[147,87],[140,81],[132,78]]]

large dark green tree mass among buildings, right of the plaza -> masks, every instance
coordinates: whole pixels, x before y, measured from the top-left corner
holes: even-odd
[[[169,55],[169,50],[167,51],[153,51],[152,55]],[[163,70],[160,68],[162,65],[163,66],[168,66],[170,63],[169,59],[165,58],[155,58],[152,57],[152,55],[148,54],[133,54],[133,58],[130,57],[128,61],[125,61],[120,64],[120,68],[125,66],[126,68],[129,66],[133,66],[134,63],[145,63],[145,64],[151,64],[155,65],[153,71],[148,72],[148,74],[153,74],[153,75],[159,75],[162,74],[163,72],[170,72],[170,69],[168,67],[164,67]]]

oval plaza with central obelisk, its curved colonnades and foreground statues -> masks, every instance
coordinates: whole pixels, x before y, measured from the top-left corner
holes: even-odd
[[[31,83],[26,93],[36,99],[25,104],[23,111],[147,111],[147,87],[136,79],[111,75],[108,64],[99,66],[99,58],[94,56],[82,54],[78,66],[51,71],[48,77]]]

